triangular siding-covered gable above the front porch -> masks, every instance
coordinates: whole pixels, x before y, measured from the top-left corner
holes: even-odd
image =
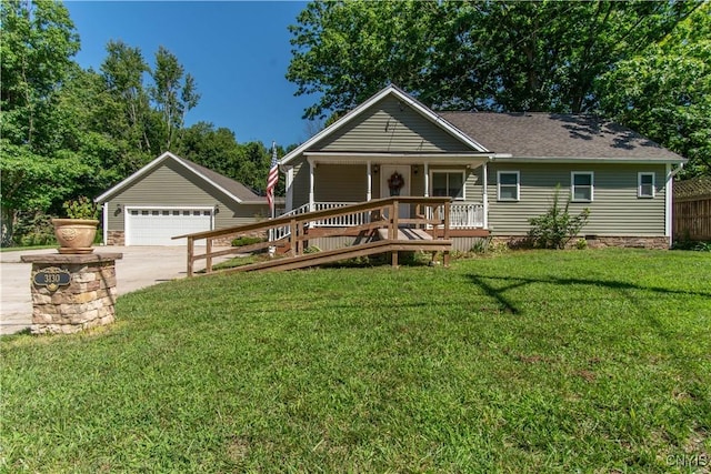
[[[402,110],[401,110],[402,109]],[[320,151],[471,152],[471,148],[392,97],[311,147]]]

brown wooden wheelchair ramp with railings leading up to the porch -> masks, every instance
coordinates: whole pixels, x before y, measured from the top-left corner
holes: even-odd
[[[264,251],[278,246],[287,249],[287,254],[220,272],[294,270],[379,253],[391,253],[392,265],[398,266],[398,254],[401,251],[431,252],[433,259],[441,253],[442,263],[449,265],[449,254],[452,250],[452,241],[449,238],[450,202],[450,198],[389,198],[324,211],[283,215],[254,224],[179,235],[173,239],[186,238],[188,241],[188,276],[193,276],[194,262],[198,260],[204,259],[206,272],[213,273],[212,260],[217,256]],[[411,206],[415,218],[400,219],[399,205],[401,203]],[[374,238],[342,249],[314,253],[304,252],[309,234],[312,234],[311,231],[317,228],[319,222],[349,214],[361,216],[367,214],[369,219],[363,224],[346,229],[319,229],[319,234],[337,236],[346,232],[351,235],[353,232],[361,232],[372,234]],[[430,215],[430,218],[425,218],[425,215]],[[214,240],[254,234],[278,235],[278,238],[249,246],[212,251]],[[204,254],[196,254],[194,243],[199,240],[207,241]]]

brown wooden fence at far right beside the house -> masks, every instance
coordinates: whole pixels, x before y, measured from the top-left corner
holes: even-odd
[[[711,240],[711,177],[674,183],[674,239]]]

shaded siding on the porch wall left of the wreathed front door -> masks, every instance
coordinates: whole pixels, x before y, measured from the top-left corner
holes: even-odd
[[[324,164],[316,168],[317,202],[362,202],[367,199],[368,169],[364,164]]]

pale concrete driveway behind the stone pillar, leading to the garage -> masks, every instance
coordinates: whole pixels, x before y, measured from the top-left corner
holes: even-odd
[[[13,334],[32,323],[30,278],[32,265],[20,262],[20,255],[56,253],[53,249],[0,253],[1,299],[0,334]],[[119,295],[166,281],[186,278],[186,246],[98,246],[96,253],[123,253],[117,261]],[[198,251],[202,253],[202,251]],[[196,270],[204,268],[204,261]],[[216,260],[217,263],[217,260]]]

